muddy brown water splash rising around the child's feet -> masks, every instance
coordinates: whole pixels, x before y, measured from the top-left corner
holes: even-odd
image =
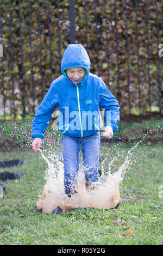
[[[126,169],[129,167],[130,157],[133,150],[137,147],[137,143],[128,151],[126,160],[118,168],[117,172],[111,173],[111,165],[115,161],[113,159],[109,164],[108,172],[104,171],[104,159],[102,163],[102,175],[98,179],[98,186],[94,190],[85,186],[84,172],[82,166],[79,166],[78,175],[75,180],[75,193],[71,198],[67,197],[64,190],[64,164],[55,157],[52,163],[40,150],[42,158],[47,162],[46,184],[39,200],[36,202],[37,209],[42,212],[50,213],[57,206],[62,210],[70,210],[73,208],[98,208],[110,209],[114,208],[120,201],[120,182],[124,178]],[[53,155],[54,159],[54,155]]]

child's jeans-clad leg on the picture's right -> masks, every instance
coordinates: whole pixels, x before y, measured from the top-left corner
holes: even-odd
[[[100,132],[82,138],[82,152],[85,179],[89,185],[96,185],[98,181]]]

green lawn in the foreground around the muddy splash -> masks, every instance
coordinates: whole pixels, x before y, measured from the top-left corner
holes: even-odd
[[[117,156],[111,168],[115,172],[131,147],[123,143],[101,145],[100,156],[108,162]],[[54,151],[59,149],[60,144]],[[36,211],[36,200],[46,183],[47,164],[40,153],[18,148],[1,152],[1,160],[18,158],[24,162],[20,168],[5,169],[20,170],[21,179],[1,182],[8,193],[0,199],[0,245],[161,245],[162,149],[163,144],[137,145],[120,185],[122,202],[117,210],[78,209],[59,215]],[[126,225],[116,225],[117,218]],[[129,228],[134,229],[133,234],[124,235]]]

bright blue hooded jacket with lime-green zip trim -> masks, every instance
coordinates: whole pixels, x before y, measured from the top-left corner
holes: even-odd
[[[44,133],[55,107],[59,108],[58,128],[73,137],[86,137],[100,131],[103,121],[100,109],[104,108],[105,126],[113,132],[120,120],[118,101],[110,93],[102,78],[90,73],[90,59],[80,44],[68,45],[61,61],[62,75],[52,81],[51,86],[37,109],[32,138],[44,138]],[[73,83],[65,70],[82,67],[86,70],[83,80]]]

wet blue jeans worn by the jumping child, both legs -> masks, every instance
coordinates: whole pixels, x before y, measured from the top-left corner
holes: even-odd
[[[100,132],[87,137],[62,136],[64,185],[65,193],[69,196],[74,193],[74,179],[79,170],[80,145],[86,183],[93,186],[98,181]]]

